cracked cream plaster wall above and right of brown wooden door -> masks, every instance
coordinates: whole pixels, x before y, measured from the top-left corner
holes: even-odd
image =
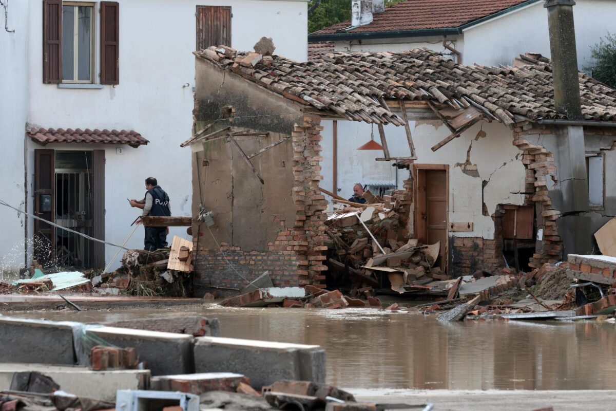
[[[447,137],[449,129],[436,120],[411,121],[411,129],[418,157],[416,163],[450,165],[448,222],[474,223],[472,232],[450,232],[450,235],[493,239],[491,216],[496,206],[524,203],[525,168],[522,152],[512,144],[513,132],[503,124],[482,121],[432,152],[431,147]],[[486,136],[476,139],[480,130]],[[477,166],[476,171],[474,166]],[[484,203],[487,215],[483,213]]]

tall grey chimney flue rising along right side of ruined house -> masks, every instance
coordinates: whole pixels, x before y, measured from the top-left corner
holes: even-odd
[[[556,111],[567,116],[571,124],[557,125],[559,190],[550,192],[554,208],[561,211],[557,220],[564,244],[564,255],[588,254],[592,250],[588,177],[584,128],[574,121],[582,120],[580,80],[575,49],[573,0],[547,0],[549,49],[552,57],[554,105]]]

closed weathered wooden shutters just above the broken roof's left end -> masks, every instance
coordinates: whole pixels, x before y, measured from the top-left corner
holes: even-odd
[[[231,47],[231,7],[197,6],[197,50]]]

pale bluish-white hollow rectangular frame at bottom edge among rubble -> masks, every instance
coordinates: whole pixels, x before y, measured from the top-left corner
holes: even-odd
[[[180,407],[183,411],[199,411],[199,396],[169,391],[120,389],[116,396],[117,411],[150,411]]]

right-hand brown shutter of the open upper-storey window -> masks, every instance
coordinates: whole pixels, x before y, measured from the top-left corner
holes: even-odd
[[[120,84],[120,4],[100,2],[100,84]]]

